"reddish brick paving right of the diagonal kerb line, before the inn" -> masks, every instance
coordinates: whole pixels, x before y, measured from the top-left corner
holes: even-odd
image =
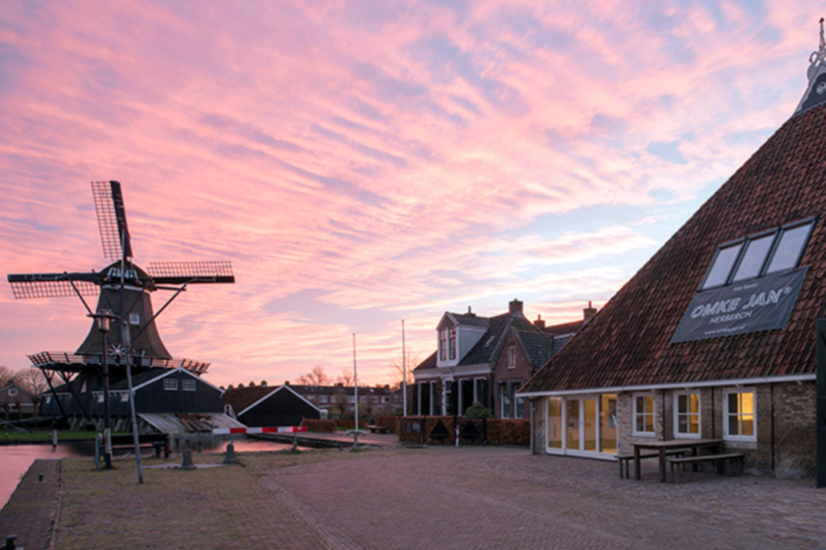
[[[393,449],[249,462],[363,548],[826,548],[814,482],[690,474],[620,480],[615,463],[525,449]]]

